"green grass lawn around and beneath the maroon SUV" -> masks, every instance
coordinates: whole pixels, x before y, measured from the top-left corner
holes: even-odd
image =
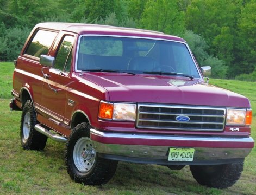
[[[21,112],[9,111],[14,65],[0,62],[0,194],[255,194],[256,150],[246,158],[240,180],[226,190],[197,184],[189,166],[180,171],[165,166],[118,164],[116,174],[103,186],[74,183],[66,172],[65,145],[47,141],[43,151],[24,151],[20,144]],[[256,139],[256,83],[210,79],[251,100],[252,137]]]

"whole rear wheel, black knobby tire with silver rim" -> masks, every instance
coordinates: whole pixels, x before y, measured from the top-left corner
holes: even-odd
[[[24,150],[43,150],[47,137],[35,130],[36,112],[31,100],[26,101],[21,115],[20,137]]]

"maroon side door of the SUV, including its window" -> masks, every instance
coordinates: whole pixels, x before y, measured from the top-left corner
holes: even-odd
[[[43,123],[60,133],[63,126],[66,85],[71,82],[69,72],[71,68],[72,48],[74,36],[64,35],[57,51],[54,68],[44,69],[41,109]]]

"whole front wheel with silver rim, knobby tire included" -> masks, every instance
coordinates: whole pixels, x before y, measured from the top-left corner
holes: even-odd
[[[99,158],[90,139],[88,123],[77,125],[66,144],[66,168],[70,177],[85,185],[102,185],[115,174],[117,161]]]

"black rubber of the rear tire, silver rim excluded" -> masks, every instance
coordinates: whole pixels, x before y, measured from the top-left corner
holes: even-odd
[[[24,116],[26,113],[29,112],[30,114],[30,131],[28,135],[28,139],[26,142],[23,142],[23,123],[24,123]],[[24,150],[43,150],[46,146],[47,137],[38,131],[35,130],[35,125],[38,124],[36,120],[36,112],[33,106],[33,102],[31,100],[26,101],[24,107],[22,109],[21,114],[21,126],[20,126],[20,139],[21,145]]]

